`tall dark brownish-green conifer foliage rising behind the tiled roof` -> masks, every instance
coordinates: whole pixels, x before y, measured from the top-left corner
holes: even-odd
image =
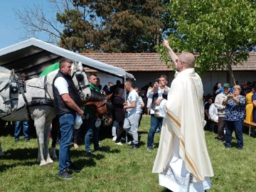
[[[74,1],[73,9],[57,14],[65,29],[60,46],[105,53],[152,52],[159,43],[160,20],[169,1]]]

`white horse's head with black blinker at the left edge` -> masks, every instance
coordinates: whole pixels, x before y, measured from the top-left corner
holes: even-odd
[[[3,101],[0,103],[1,111],[8,114],[17,109],[18,77],[14,74],[14,70],[0,68],[0,95]]]

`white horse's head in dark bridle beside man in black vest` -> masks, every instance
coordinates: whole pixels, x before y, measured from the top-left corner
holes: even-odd
[[[89,81],[85,74],[85,69],[82,67],[82,63],[73,63],[71,76],[75,87],[78,87],[78,93],[82,102],[87,102],[90,99],[91,91],[89,87]]]

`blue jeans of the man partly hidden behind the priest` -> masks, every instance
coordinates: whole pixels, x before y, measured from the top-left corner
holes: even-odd
[[[148,134],[148,140],[147,140],[147,147],[152,148],[154,144],[154,134],[156,133],[156,129],[161,129],[161,126],[163,124],[163,117],[154,117],[154,114],[151,114],[150,119],[150,129]]]

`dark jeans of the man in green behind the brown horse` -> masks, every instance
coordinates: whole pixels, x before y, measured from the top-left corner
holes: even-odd
[[[90,117],[86,120],[85,129],[85,151],[90,151],[90,136],[92,134],[92,142],[95,150],[100,149],[99,145],[99,131],[100,127],[95,127],[95,117]]]

